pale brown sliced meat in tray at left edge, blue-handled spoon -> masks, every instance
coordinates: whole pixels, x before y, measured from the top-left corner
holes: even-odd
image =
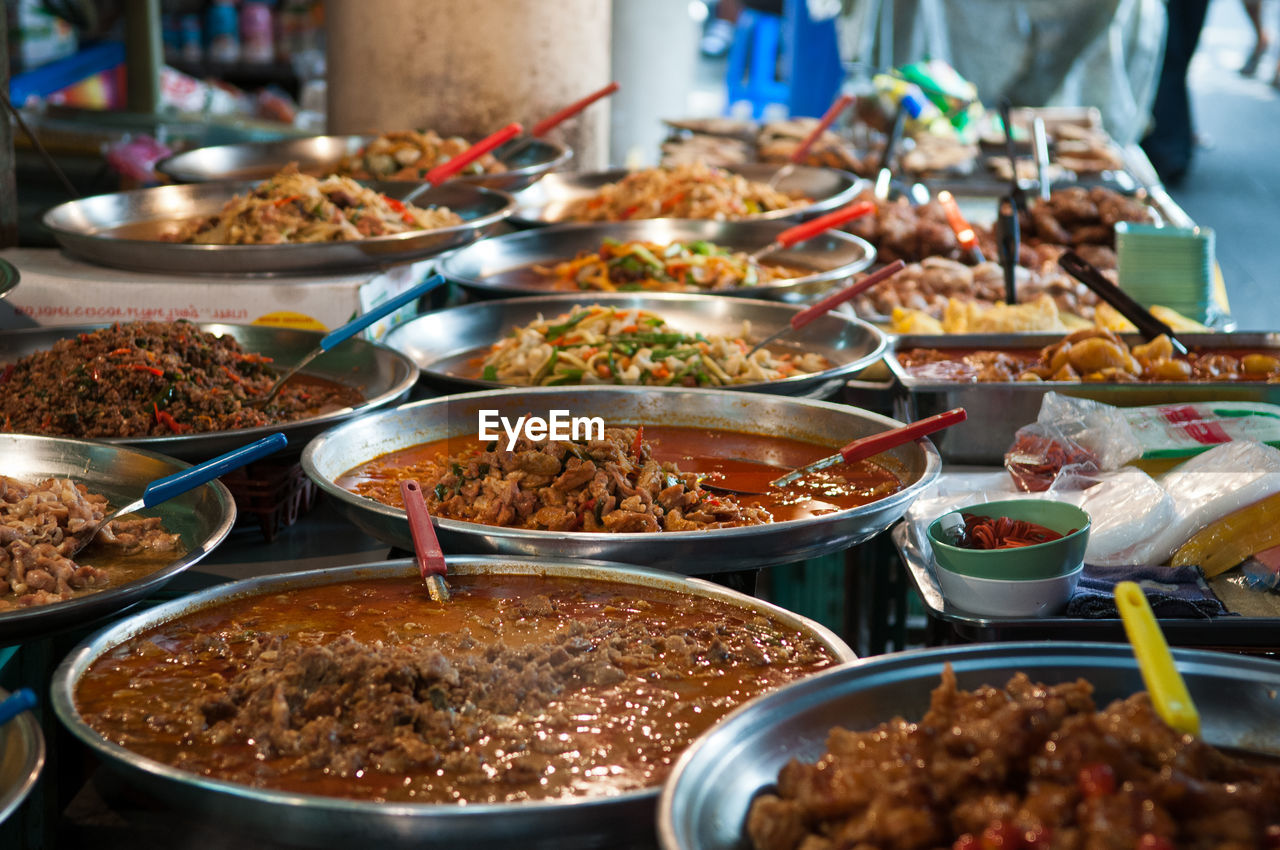
[[[108,512],[105,495],[70,479],[27,484],[0,475],[0,611],[104,588],[113,577],[104,562],[147,554],[168,562],[182,554],[179,535],[160,527],[160,517],[124,517],[109,522],[91,548],[76,556]]]

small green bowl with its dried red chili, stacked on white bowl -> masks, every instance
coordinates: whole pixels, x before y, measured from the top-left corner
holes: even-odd
[[[959,513],[964,526],[948,534]],[[1078,572],[1089,543],[1089,515],[1068,502],[1009,499],[960,508],[929,524],[938,566],[974,579],[1034,581]]]

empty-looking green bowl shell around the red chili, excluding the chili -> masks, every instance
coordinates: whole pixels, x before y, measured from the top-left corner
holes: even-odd
[[[1027,520],[1065,536],[1016,549],[961,549],[942,539],[942,517],[938,517],[929,524],[929,544],[933,547],[933,557],[951,572],[975,579],[1029,581],[1065,576],[1084,562],[1084,547],[1089,543],[1089,515],[1074,504],[1046,499],[1009,499],[957,509],[960,513]]]

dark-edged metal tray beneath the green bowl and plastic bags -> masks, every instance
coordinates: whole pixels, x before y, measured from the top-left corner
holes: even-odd
[[[899,522],[890,531],[902,566],[924,600],[931,618],[950,625],[957,636],[973,643],[1005,640],[1088,640],[1124,641],[1124,623],[1119,618],[1089,620],[1083,617],[989,617],[972,614],[951,605],[942,595],[933,571],[933,553],[911,534],[909,522]],[[1211,620],[1162,618],[1160,627],[1170,644],[1235,649],[1239,652],[1280,650],[1280,617],[1215,617]]]

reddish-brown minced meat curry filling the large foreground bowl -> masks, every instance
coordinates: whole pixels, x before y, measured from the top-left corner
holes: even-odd
[[[84,721],[201,777],[396,803],[652,787],[756,694],[836,663],[796,629],[663,588],[417,576],[238,598],[106,652]]]

